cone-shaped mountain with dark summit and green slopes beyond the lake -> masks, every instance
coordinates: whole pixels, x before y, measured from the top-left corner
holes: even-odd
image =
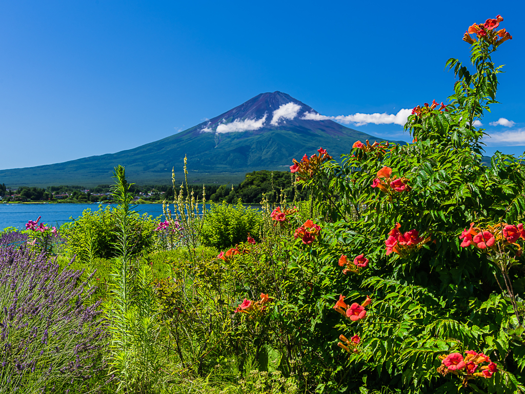
[[[381,140],[331,120],[301,119],[317,114],[299,100],[282,93],[260,94],[222,115],[183,132],[143,146],[38,167],[0,170],[9,186],[112,183],[113,168],[122,164],[137,183],[168,183],[171,169],[182,179],[184,155],[188,178],[197,182],[238,182],[246,172],[284,170],[291,159],[312,154],[319,147],[334,158],[348,153],[356,140]]]

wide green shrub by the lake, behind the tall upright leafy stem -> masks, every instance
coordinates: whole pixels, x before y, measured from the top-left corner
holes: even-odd
[[[130,240],[132,253],[150,250],[155,242],[156,222],[152,216],[130,214]],[[117,220],[110,206],[98,211],[90,209],[82,212],[74,222],[65,223],[60,233],[67,239],[67,251],[77,256],[77,262],[87,262],[93,258],[113,258],[117,255]]]

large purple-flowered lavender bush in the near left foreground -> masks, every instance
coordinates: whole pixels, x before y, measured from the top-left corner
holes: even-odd
[[[0,248],[0,392],[87,389],[102,373],[100,301],[86,302],[95,288],[81,274],[25,246]]]

